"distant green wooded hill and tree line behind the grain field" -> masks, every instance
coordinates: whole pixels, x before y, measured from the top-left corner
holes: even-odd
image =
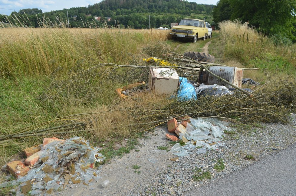
[[[169,27],[170,23],[194,14],[211,15],[214,5],[197,4],[180,0],[104,0],[88,7],[78,7],[42,13],[24,9],[0,20],[14,25],[42,27],[50,24],[67,24],[67,11],[71,27],[117,26],[130,28]],[[95,20],[94,16],[101,17]],[[111,18],[111,21],[107,21]]]

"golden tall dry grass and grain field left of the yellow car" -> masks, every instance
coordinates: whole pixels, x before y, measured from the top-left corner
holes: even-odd
[[[79,64],[127,64],[140,48],[167,39],[166,31],[128,29],[2,28],[0,73],[67,73]]]

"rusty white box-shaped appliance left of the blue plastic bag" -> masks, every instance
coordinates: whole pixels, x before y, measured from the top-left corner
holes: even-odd
[[[150,68],[148,86],[157,94],[173,94],[179,85],[179,76],[173,68]]]

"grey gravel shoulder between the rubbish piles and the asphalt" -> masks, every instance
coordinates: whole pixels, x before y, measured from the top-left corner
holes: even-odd
[[[146,139],[140,139],[138,152],[133,150],[122,158],[113,158],[110,164],[103,165],[100,172],[102,178],[97,183],[90,186],[71,185],[54,194],[184,195],[294,144],[295,117],[292,114],[292,121],[287,125],[266,123],[248,130],[235,131],[223,139],[225,146],[222,152],[207,150],[206,154],[196,154],[193,151],[191,156],[179,157],[177,162],[169,160],[170,157],[175,157],[171,152],[166,152],[165,155],[154,152],[158,146],[169,145],[165,139],[167,129],[158,127],[154,132],[147,133]],[[239,126],[235,129],[239,130]],[[246,159],[247,155],[253,159]],[[158,162],[148,161],[150,158],[157,159]],[[225,168],[220,172],[213,165],[219,159],[225,163]],[[140,168],[133,169],[133,165]],[[195,175],[203,172],[210,172],[211,179],[193,180]],[[110,185],[103,188],[101,182],[106,179],[110,181]]]

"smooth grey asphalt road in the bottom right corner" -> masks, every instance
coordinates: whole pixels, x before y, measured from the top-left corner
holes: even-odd
[[[296,143],[186,195],[296,196]]]

